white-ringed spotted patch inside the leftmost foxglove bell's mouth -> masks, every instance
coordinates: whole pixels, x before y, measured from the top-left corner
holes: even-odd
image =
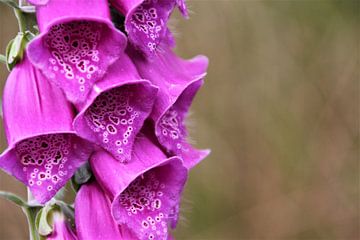
[[[66,134],[44,135],[16,145],[16,155],[31,189],[56,191],[56,186],[72,171],[74,166],[68,160],[70,138]]]

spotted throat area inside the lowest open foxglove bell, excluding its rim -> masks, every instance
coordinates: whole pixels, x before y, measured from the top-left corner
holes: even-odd
[[[136,232],[139,229],[141,239],[166,239],[167,225],[175,217],[170,199],[177,201],[178,196],[171,196],[161,168],[136,178],[119,197],[122,214],[128,215],[128,227]]]

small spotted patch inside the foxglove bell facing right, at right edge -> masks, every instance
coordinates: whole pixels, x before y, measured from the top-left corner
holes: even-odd
[[[175,153],[186,150],[186,144],[184,144],[186,137],[186,130],[183,125],[184,115],[173,106],[165,112],[159,121],[160,141]]]

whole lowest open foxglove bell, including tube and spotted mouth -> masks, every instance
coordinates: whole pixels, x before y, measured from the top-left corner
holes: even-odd
[[[167,158],[145,136],[134,144],[132,161],[122,164],[97,152],[90,165],[112,199],[112,213],[124,231],[139,239],[167,239],[176,226],[187,169],[178,157]]]

